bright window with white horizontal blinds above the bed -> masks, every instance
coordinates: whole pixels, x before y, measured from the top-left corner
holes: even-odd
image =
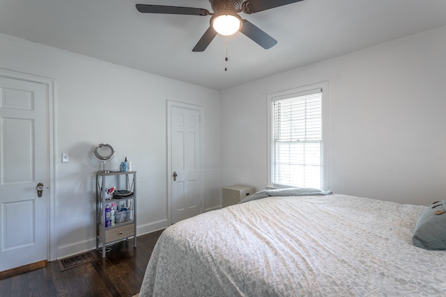
[[[268,96],[270,185],[325,188],[324,89],[327,83]]]

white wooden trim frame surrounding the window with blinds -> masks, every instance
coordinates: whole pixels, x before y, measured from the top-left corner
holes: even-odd
[[[268,186],[267,188],[286,188],[290,185],[274,184],[272,182],[273,178],[273,150],[274,150],[274,139],[273,139],[273,129],[274,129],[274,108],[273,104],[275,101],[282,99],[290,99],[293,97],[299,97],[302,95],[307,95],[309,92],[315,89],[321,90],[321,120],[322,120],[322,140],[321,140],[321,189],[325,190],[328,188],[328,81],[323,81],[321,83],[313,83],[311,85],[302,86],[298,88],[293,88],[290,90],[283,90],[276,93],[268,94]]]

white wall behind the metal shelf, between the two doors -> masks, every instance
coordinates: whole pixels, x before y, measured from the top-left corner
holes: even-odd
[[[220,207],[220,93],[0,35],[0,68],[55,80],[57,257],[95,248],[98,143],[137,171],[137,234],[167,227],[167,100],[203,106],[204,209]],[[61,152],[70,154],[61,163]]]

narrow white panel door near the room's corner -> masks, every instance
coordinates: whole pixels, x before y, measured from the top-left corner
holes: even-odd
[[[171,106],[172,223],[201,214],[200,111]]]

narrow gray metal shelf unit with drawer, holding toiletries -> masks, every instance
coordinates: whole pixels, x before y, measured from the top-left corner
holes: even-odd
[[[111,186],[117,189],[115,195],[107,193]],[[107,224],[106,208],[112,204],[116,205],[114,220]],[[133,247],[137,247],[136,209],[137,172],[96,173],[96,250],[102,249],[102,257],[105,257],[107,243],[128,241],[133,237]]]

